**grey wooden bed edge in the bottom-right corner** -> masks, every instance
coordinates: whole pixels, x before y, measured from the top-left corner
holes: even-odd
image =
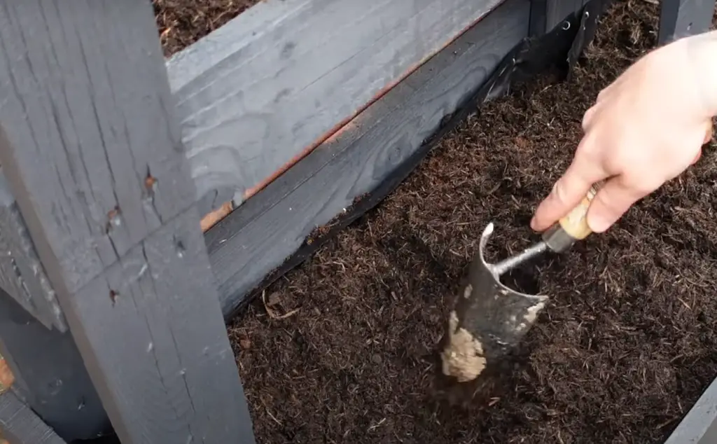
[[[717,379],[673,430],[665,444],[717,443]]]

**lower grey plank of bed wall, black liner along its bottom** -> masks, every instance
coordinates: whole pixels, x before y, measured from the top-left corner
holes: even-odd
[[[231,318],[272,280],[315,251],[320,242],[313,240],[311,245],[304,245],[313,228],[326,224],[346,209],[346,214],[331,221],[332,232],[336,232],[389,194],[429,150],[431,143],[423,142],[441,126],[448,128],[447,121],[452,125],[460,121],[455,116],[451,119],[457,110],[475,109],[482,100],[493,98],[505,89],[518,72],[541,70],[549,57],[558,62],[566,60],[578,34],[580,17],[572,14],[567,19],[573,26],[568,29],[559,27],[543,36],[541,41],[549,43],[541,44],[530,39],[516,47],[528,33],[528,9],[528,1],[509,1],[500,5],[371,105],[336,138],[315,150],[206,233],[225,317]],[[522,25],[512,25],[522,26],[520,35],[516,31],[503,34],[508,46],[500,49],[501,42],[496,37],[500,35],[498,30],[516,17],[523,20]],[[483,33],[492,37],[485,37]],[[489,41],[493,38],[490,43],[484,41],[485,47],[480,51],[475,49],[480,47],[478,35]],[[495,54],[496,49],[500,54]],[[462,57],[466,51],[470,57]],[[469,75],[462,80],[454,77],[457,72],[470,72],[471,64],[480,57],[493,60],[489,64],[492,66],[486,67],[480,75],[474,73],[473,77]],[[494,77],[488,79],[500,60],[503,63],[494,71]],[[461,87],[463,89],[457,87],[461,81],[466,82]],[[483,88],[475,96],[481,85]],[[461,91],[454,93],[460,97],[451,98],[447,103],[429,101],[423,104],[416,93],[420,90],[421,94],[435,98],[452,87]],[[471,97],[473,100],[466,102]],[[422,121],[414,113],[431,117]],[[414,121],[414,126],[402,128],[402,120]],[[351,166],[344,171],[342,166],[349,164]],[[374,166],[376,171],[372,171]],[[367,170],[351,175],[350,171],[361,168]],[[356,197],[366,193],[369,193],[368,198],[351,206]],[[313,213],[300,212],[302,209]],[[262,234],[262,230],[272,234]],[[263,242],[262,236],[265,238]]]

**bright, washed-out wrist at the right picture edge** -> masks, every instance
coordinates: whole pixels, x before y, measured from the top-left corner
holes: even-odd
[[[717,115],[717,31],[696,34],[682,40],[688,59],[687,69],[694,78],[695,93],[703,117],[712,118]]]

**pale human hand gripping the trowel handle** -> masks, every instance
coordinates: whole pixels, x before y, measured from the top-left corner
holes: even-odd
[[[694,40],[678,40],[642,57],[599,93],[584,115],[574,159],[538,206],[533,230],[546,230],[605,179],[587,213],[590,229],[604,232],[632,204],[699,159],[717,110],[717,97],[708,97],[717,77],[703,72],[708,64],[714,68],[708,57],[717,59],[714,42],[709,49],[696,51]]]

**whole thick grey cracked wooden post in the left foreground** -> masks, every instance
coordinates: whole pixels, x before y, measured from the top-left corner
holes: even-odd
[[[0,0],[0,164],[120,440],[253,443],[174,107],[150,1]]]

